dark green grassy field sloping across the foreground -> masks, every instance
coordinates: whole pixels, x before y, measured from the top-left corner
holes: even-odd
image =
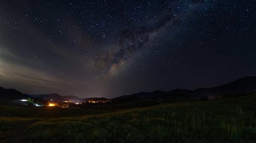
[[[97,115],[87,115],[93,110],[54,108],[59,113],[52,118],[19,118],[28,111],[21,107],[20,114],[7,117],[10,110],[0,109],[0,142],[256,142],[256,95],[108,113],[95,110]]]

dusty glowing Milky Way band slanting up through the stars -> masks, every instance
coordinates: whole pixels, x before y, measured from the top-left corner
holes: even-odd
[[[169,3],[165,1],[164,4],[166,5],[157,17],[147,18],[142,24],[133,25],[133,27],[121,30],[117,48],[112,52],[108,50],[107,53],[105,53],[105,59],[103,59],[103,65],[106,66],[105,70],[103,70],[104,74],[112,74],[113,70],[118,69],[124,62],[130,61],[134,53],[141,48],[146,48],[147,46],[145,45],[148,41],[154,41],[156,34],[164,31],[165,26],[168,25],[170,28],[173,28],[180,22],[181,18],[187,18],[188,12],[191,12],[188,10],[197,7],[197,3],[199,2],[203,3],[203,1],[191,1],[191,5],[184,6],[183,9],[186,10],[173,11],[173,8],[177,7],[178,4],[176,2],[172,3],[172,1]],[[182,17],[179,17],[180,15],[182,15]]]

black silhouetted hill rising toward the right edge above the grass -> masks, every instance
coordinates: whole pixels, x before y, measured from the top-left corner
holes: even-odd
[[[139,98],[151,98],[159,102],[180,102],[199,100],[202,96],[210,98],[241,96],[256,93],[256,77],[247,76],[213,88],[200,88],[197,90],[175,89],[172,91],[141,92],[133,94]]]

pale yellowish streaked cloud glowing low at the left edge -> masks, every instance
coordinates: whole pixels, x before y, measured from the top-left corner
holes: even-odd
[[[0,47],[0,80],[22,82],[36,87],[55,89],[55,85],[72,84],[68,80],[37,70],[18,62],[10,51]]]

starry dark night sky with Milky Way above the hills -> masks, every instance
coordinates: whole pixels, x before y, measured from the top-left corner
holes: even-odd
[[[256,2],[1,1],[0,87],[116,97],[256,76]]]

